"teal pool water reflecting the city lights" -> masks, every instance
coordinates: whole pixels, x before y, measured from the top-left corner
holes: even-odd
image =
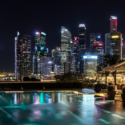
[[[118,125],[120,101],[73,92],[0,93],[0,125]]]

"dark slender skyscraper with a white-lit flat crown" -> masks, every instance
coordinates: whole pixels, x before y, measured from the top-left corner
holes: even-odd
[[[83,55],[86,50],[86,27],[85,24],[79,24],[78,28],[78,41],[79,41],[79,61],[80,61],[80,73],[84,73]]]

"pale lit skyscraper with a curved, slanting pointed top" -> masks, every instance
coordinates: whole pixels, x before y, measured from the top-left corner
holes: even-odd
[[[71,33],[65,27],[61,27],[61,74],[64,74],[64,64],[71,54],[70,49]],[[68,61],[67,63],[70,63]]]

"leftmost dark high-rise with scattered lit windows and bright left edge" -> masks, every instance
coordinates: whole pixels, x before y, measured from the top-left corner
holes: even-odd
[[[17,32],[15,37],[15,77],[22,80],[30,77],[32,71],[31,62],[31,36],[20,35]]]

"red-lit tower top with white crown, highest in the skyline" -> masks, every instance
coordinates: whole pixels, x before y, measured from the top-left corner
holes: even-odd
[[[117,17],[111,16],[110,17],[110,33],[116,33],[117,32]]]

